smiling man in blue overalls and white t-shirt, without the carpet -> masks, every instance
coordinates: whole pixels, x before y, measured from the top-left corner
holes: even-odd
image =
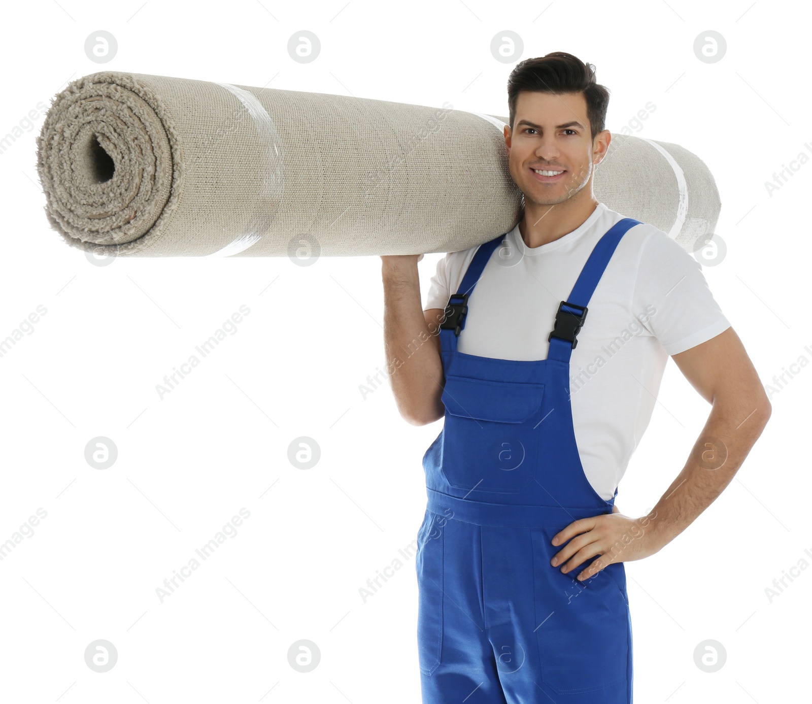
[[[608,99],[572,54],[517,64],[504,140],[524,217],[440,260],[425,311],[420,257],[382,257],[398,408],[444,416],[418,533],[426,704],[632,702],[623,563],[685,530],[770,417],[699,264],[595,200]],[[617,484],[669,355],[711,413],[653,510],[624,516]]]

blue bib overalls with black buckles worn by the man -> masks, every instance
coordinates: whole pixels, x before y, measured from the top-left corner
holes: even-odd
[[[631,704],[632,625],[622,562],[585,581],[550,560],[574,520],[611,513],[572,427],[569,360],[624,218],[595,245],[559,305],[545,360],[457,352],[473,287],[504,235],[480,245],[439,332],[443,430],[425,451],[417,536],[424,704]],[[469,301],[470,298],[470,301]],[[456,301],[455,301],[456,300]],[[528,301],[517,305],[532,307]]]

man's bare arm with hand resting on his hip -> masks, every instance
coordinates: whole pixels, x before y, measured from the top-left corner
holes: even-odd
[[[552,564],[563,572],[572,570],[573,577],[586,579],[612,562],[661,550],[728,486],[767,425],[770,401],[732,327],[672,359],[712,404],[711,414],[682,471],[649,514],[635,519],[612,512],[584,518],[554,536],[553,545],[566,544]],[[594,557],[598,559],[586,562]]]

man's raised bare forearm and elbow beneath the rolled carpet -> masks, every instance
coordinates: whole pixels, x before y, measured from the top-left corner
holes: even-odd
[[[398,411],[412,425],[426,425],[445,413],[438,336],[443,309],[421,308],[418,257],[381,256],[383,339]]]

